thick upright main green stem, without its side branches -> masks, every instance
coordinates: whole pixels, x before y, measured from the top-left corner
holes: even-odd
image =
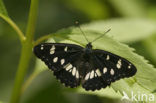
[[[16,73],[15,83],[11,95],[10,103],[18,103],[21,97],[22,84],[24,77],[27,73],[30,57],[32,54],[32,42],[35,31],[35,24],[37,18],[38,10],[38,0],[31,0],[27,30],[26,30],[26,40],[22,44],[21,57],[18,65],[18,70]]]

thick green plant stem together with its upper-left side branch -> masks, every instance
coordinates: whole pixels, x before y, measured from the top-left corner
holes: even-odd
[[[31,48],[32,48],[33,34],[35,31],[38,1],[37,0],[32,1],[30,14],[29,14],[30,16],[28,20],[28,27],[26,31],[26,37],[18,28],[18,26],[7,16],[7,12],[2,1],[0,1],[0,6],[1,6],[0,17],[3,18],[14,28],[14,30],[19,35],[19,39],[21,40],[22,43],[21,57],[20,57],[15,83],[14,83],[14,87],[10,99],[11,103],[17,103],[20,101],[21,88],[31,57]]]

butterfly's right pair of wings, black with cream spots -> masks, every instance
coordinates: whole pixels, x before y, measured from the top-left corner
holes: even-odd
[[[90,71],[86,73],[83,88],[99,90],[111,82],[135,75],[137,69],[128,60],[103,50],[93,50]]]

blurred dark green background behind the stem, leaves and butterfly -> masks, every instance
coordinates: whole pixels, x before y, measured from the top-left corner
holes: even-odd
[[[4,0],[9,16],[25,32],[30,0]],[[113,18],[145,18],[156,21],[155,0],[40,0],[35,39],[62,28]],[[134,24],[135,25],[135,24]],[[122,25],[121,25],[122,28]],[[146,28],[145,28],[146,29]],[[129,31],[127,31],[129,32]],[[134,31],[135,32],[135,31]],[[129,44],[156,66],[156,33]],[[139,49],[138,49],[139,48]],[[141,49],[140,49],[141,48]],[[16,32],[0,18],[0,101],[7,103],[20,56]],[[31,60],[29,76],[35,64]],[[49,71],[39,74],[22,96],[22,103],[120,103],[119,99],[79,94],[64,88]]]

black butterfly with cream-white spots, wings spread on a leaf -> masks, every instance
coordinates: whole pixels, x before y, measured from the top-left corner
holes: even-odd
[[[71,88],[82,84],[85,90],[99,90],[116,80],[135,75],[137,69],[128,60],[110,52],[66,43],[42,43],[35,55],[51,69],[58,80]]]

